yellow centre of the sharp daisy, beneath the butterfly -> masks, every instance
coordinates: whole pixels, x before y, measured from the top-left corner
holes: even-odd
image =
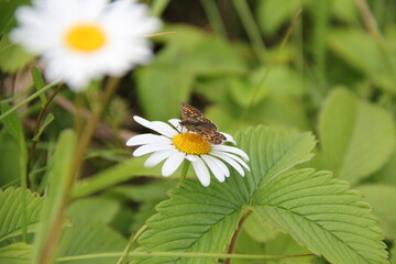
[[[172,139],[177,150],[190,155],[202,155],[210,152],[210,144],[202,136],[194,133],[179,133]]]

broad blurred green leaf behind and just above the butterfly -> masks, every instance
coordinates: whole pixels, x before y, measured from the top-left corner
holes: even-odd
[[[179,116],[179,102],[189,100],[197,76],[245,72],[242,58],[226,41],[193,26],[166,30],[177,31],[177,34],[166,38],[168,43],[153,64],[135,72],[140,106],[152,120]]]

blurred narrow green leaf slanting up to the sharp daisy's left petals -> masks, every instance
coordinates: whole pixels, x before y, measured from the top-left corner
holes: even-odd
[[[131,158],[106,170],[101,170],[89,178],[80,179],[75,184],[72,196],[74,198],[88,196],[128,179],[161,174],[161,168],[158,167],[144,168],[144,160],[142,157]]]

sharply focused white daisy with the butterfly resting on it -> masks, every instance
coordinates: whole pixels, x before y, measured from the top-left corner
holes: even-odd
[[[146,167],[153,167],[166,160],[162,167],[163,176],[172,175],[185,160],[193,164],[194,170],[204,186],[210,184],[210,172],[221,183],[230,176],[226,163],[242,176],[244,176],[243,167],[250,170],[245,163],[249,161],[249,156],[242,150],[229,145],[210,144],[199,134],[182,127],[180,120],[172,119],[169,120],[172,125],[169,125],[160,121],[151,122],[136,116],[133,119],[161,135],[151,133],[135,135],[128,140],[127,145],[141,145],[133,152],[134,156],[152,153],[144,163]],[[226,141],[235,143],[231,135],[222,134],[227,138]]]

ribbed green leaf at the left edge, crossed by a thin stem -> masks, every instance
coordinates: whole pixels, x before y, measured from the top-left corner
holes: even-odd
[[[29,232],[36,230],[38,216],[43,207],[43,198],[22,188],[9,187],[0,189],[0,241],[22,233],[22,195],[26,202],[26,226]]]

